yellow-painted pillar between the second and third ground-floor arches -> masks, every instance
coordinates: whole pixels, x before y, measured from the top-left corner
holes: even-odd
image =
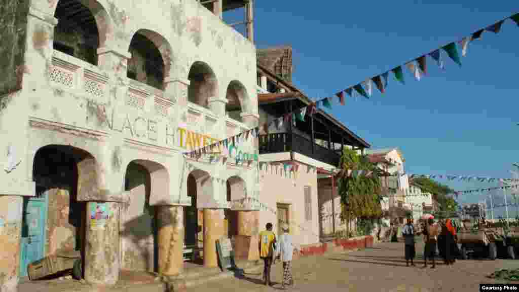
[[[182,273],[184,260],[184,207],[157,206],[159,273]]]

